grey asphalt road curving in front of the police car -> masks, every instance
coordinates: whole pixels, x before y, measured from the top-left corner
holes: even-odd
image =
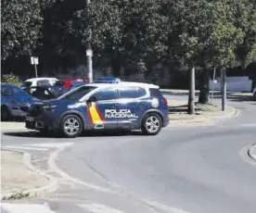
[[[74,143],[57,159],[58,168],[75,178],[73,184],[28,201],[48,202],[55,212],[84,212],[78,204],[90,200],[130,213],[255,213],[256,162],[246,148],[256,143],[256,103],[229,104],[241,110],[240,117],[211,127],[47,142],[33,133],[4,133],[2,145]]]

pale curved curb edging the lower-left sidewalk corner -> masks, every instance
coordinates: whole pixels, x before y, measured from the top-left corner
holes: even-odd
[[[31,154],[29,154],[27,152],[22,152],[19,150],[8,149],[8,148],[1,148],[1,149],[6,150],[6,151],[21,153],[23,155],[22,162],[25,165],[25,167],[27,169],[32,170],[32,172],[45,177],[45,179],[47,179],[49,181],[49,183],[47,185],[41,186],[39,188],[32,188],[32,189],[23,190],[21,192],[15,192],[15,193],[1,194],[1,200],[20,199],[22,197],[37,196],[40,194],[50,193],[52,191],[55,191],[58,188],[58,181],[56,178],[54,178],[50,175],[47,175],[45,172],[35,169],[32,166]]]

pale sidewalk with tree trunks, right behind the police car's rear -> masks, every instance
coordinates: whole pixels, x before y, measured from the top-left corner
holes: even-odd
[[[238,114],[234,107],[227,107],[225,111],[218,105],[196,105],[196,114],[187,114],[187,101],[170,100],[169,126],[209,126],[220,119],[232,118]]]

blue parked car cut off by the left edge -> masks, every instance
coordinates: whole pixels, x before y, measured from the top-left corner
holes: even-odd
[[[38,99],[27,94],[21,88],[1,83],[1,120],[24,117],[21,107],[37,102]]]

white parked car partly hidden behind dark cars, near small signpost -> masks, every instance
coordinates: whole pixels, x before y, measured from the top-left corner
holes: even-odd
[[[24,81],[21,88],[23,89],[32,86],[52,86],[57,81],[59,81],[57,78],[33,78]]]

